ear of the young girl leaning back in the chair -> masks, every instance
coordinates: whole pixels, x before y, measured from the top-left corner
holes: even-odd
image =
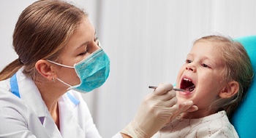
[[[227,86],[225,86],[221,92],[219,92],[219,97],[221,98],[230,98],[238,93],[239,84],[237,81],[230,81]]]

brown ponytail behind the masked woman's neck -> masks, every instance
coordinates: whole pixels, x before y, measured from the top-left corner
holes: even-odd
[[[21,67],[23,67],[23,63],[20,62],[19,59],[14,60],[9,65],[7,65],[0,72],[0,81],[3,81],[7,78],[11,78]]]

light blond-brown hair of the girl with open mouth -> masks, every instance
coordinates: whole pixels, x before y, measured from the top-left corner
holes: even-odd
[[[231,97],[230,100],[225,100],[227,101],[225,105],[217,107],[217,110],[225,110],[230,118],[252,83],[253,70],[249,55],[244,46],[225,36],[205,36],[195,41],[195,43],[198,41],[210,41],[217,44],[217,49],[225,64],[222,82],[227,84],[230,81],[237,81],[239,84],[238,93]]]

